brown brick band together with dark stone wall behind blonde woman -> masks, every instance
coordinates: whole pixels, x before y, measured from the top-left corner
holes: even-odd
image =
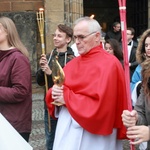
[[[41,51],[36,21],[36,11],[41,7],[44,7],[43,0],[0,0],[0,14],[14,21],[29,51],[32,76],[35,76],[38,69],[38,53]]]

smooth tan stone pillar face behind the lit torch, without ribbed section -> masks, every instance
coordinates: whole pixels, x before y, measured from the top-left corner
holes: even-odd
[[[45,44],[46,52],[53,48],[53,36],[57,25],[64,22],[64,0],[45,0]]]

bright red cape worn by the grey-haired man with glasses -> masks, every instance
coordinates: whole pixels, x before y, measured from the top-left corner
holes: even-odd
[[[99,46],[70,61],[64,72],[64,99],[71,116],[90,133],[109,135],[118,128],[118,138],[125,138],[121,120],[127,109],[125,79],[115,56]],[[53,114],[50,90],[46,100]]]

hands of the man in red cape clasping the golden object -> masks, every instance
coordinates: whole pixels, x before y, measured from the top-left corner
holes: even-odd
[[[57,103],[65,104],[63,86],[54,85],[52,87],[52,99]]]

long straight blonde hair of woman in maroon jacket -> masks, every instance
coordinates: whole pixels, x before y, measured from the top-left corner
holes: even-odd
[[[2,24],[5,31],[7,32],[8,44],[10,46],[16,47],[21,51],[22,54],[29,58],[28,50],[21,42],[14,22],[10,18],[2,16],[0,17],[0,24]]]

